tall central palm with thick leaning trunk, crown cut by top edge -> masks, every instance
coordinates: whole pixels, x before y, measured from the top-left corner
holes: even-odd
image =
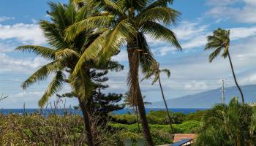
[[[77,36],[80,31],[91,28],[108,27],[101,37],[96,39],[83,53],[75,67],[73,75],[78,74],[84,61],[90,58],[98,58],[99,62],[110,58],[121,47],[127,45],[129,61],[129,95],[137,101],[140,120],[147,145],[153,145],[151,133],[146,119],[146,111],[143,104],[143,96],[139,85],[139,66],[146,73],[154,61],[151,50],[148,47],[145,34],[154,39],[161,39],[181,50],[181,46],[173,31],[166,26],[176,22],[180,15],[174,9],[168,7],[173,0],[85,0],[87,4],[102,12],[102,15],[82,20],[69,27],[67,39]],[[99,51],[99,50],[102,51]],[[99,55],[100,54],[100,55]],[[100,57],[99,57],[100,56]]]

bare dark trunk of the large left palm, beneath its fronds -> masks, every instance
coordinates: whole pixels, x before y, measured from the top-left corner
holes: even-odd
[[[92,133],[91,133],[91,123],[89,120],[89,113],[88,113],[88,110],[86,107],[86,103],[85,103],[85,101],[82,101],[82,99],[80,99],[80,98],[78,98],[78,101],[79,101],[80,108],[83,113],[83,122],[84,122],[84,126],[85,126],[87,145],[94,146],[94,139],[93,139]]]

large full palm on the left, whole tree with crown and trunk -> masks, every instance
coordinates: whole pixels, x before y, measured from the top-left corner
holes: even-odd
[[[83,69],[80,69],[80,72],[76,76],[72,76],[70,73],[74,71],[81,54],[83,54],[94,39],[99,37],[102,31],[93,29],[81,31],[77,37],[67,41],[64,30],[80,20],[95,15],[95,11],[91,10],[90,7],[81,7],[81,3],[78,4],[72,1],[65,5],[50,2],[49,5],[50,12],[48,12],[48,15],[50,15],[52,22],[40,20],[39,26],[42,28],[50,47],[25,45],[18,47],[16,50],[35,53],[43,58],[47,58],[50,63],[41,66],[21,86],[25,90],[34,82],[45,80],[50,74],[55,75],[42,98],[39,99],[38,104],[42,108],[50,96],[61,90],[64,83],[69,83],[72,87],[72,93],[78,97],[83,113],[87,143],[89,146],[93,146],[94,140],[91,133],[89,113],[86,107],[86,101],[91,97],[94,89],[90,77],[90,69],[105,69],[113,66],[113,64],[113,68],[119,69],[120,66],[115,66],[115,62],[113,61],[108,61],[106,64],[95,64],[94,61],[89,60],[82,64]]]

